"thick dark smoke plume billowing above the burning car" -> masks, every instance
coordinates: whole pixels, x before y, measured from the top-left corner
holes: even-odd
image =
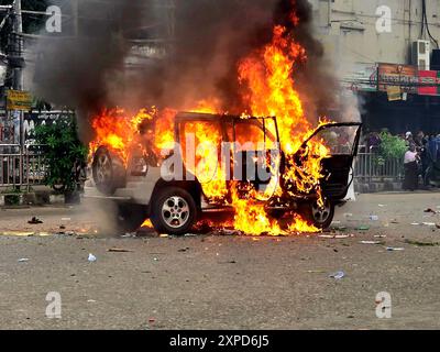
[[[157,24],[164,9],[146,8],[154,0],[107,2],[81,1],[77,37],[38,42],[34,85],[40,97],[76,108],[82,117],[103,106],[185,109],[207,98],[218,98],[228,111],[240,110],[240,58],[268,43],[275,24],[292,26],[295,9],[299,25],[294,36],[308,56],[295,72],[306,112],[314,120],[334,106],[337,82],[312,36],[307,0],[176,0],[175,34],[162,46],[167,55],[135,70],[127,65],[133,54],[130,40],[166,33]]]

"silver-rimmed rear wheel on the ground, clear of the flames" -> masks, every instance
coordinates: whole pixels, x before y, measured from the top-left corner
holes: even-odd
[[[152,204],[151,220],[160,233],[187,233],[197,218],[196,202],[183,188],[163,189]]]

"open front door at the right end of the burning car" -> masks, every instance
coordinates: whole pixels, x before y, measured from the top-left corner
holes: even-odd
[[[333,202],[343,200],[353,183],[350,170],[358,155],[361,127],[362,123],[355,122],[323,124],[304,143],[307,146],[311,141],[321,141],[329,147],[330,156],[322,161],[321,188],[323,196]]]

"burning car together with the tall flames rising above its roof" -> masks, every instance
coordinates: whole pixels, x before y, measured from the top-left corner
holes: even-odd
[[[254,235],[330,226],[352,184],[361,123],[308,119],[309,97],[295,80],[308,57],[294,35],[296,2],[288,4],[264,45],[234,63],[228,99],[204,91],[178,109],[167,100],[90,117],[88,196],[118,205],[121,230],[151,219],[161,233],[184,234],[200,215],[228,210],[228,227]]]

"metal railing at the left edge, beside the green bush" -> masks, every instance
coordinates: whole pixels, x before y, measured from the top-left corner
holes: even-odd
[[[0,144],[0,190],[26,190],[43,185],[47,167],[38,145]]]

